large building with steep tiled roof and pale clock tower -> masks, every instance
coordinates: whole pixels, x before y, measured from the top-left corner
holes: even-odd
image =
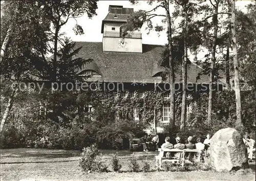
[[[130,94],[133,94],[136,87],[140,90],[140,96],[142,97],[144,90],[154,90],[159,83],[164,84],[161,77],[164,69],[158,66],[164,47],[142,44],[143,37],[140,31],[130,32],[123,36],[122,26],[129,19],[131,13],[133,13],[132,8],[109,6],[109,13],[102,20],[102,42],[76,42],[77,48],[82,47],[77,56],[84,59],[93,59],[91,63],[82,66],[78,74],[91,75],[92,77],[87,81],[115,83],[115,85],[122,83]],[[207,84],[209,81],[207,75],[198,77],[201,71],[202,69],[195,63],[189,64],[187,82],[194,85],[194,87],[202,83]],[[182,77],[180,73],[176,74],[175,81],[177,85],[181,84]],[[115,91],[116,89],[113,89],[113,92]],[[127,94],[122,96],[125,97]],[[169,122],[168,112],[169,105],[163,105],[160,122]]]

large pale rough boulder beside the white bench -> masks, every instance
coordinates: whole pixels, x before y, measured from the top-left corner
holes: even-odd
[[[210,140],[210,165],[217,171],[248,168],[247,150],[241,134],[233,128],[217,131]]]

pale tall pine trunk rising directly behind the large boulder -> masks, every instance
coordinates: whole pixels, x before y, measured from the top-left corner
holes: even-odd
[[[233,47],[233,62],[234,62],[234,90],[236,92],[236,113],[237,113],[237,125],[242,124],[242,106],[241,106],[241,94],[239,84],[239,63],[237,53],[237,38],[236,38],[236,14],[235,14],[235,2],[231,0],[231,38]]]

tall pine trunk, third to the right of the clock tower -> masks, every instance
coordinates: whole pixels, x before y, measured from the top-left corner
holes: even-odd
[[[209,82],[209,97],[208,97],[208,116],[207,116],[207,126],[210,126],[212,123],[212,97],[213,97],[213,84],[214,74],[215,74],[215,61],[216,61],[216,46],[217,46],[217,33],[218,33],[218,8],[219,8],[219,0],[215,5],[215,15],[212,16],[212,21],[214,24],[214,44],[211,49],[211,63],[210,63],[210,82]]]

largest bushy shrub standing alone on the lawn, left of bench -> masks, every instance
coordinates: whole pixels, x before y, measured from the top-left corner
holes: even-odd
[[[79,166],[84,172],[106,172],[108,167],[103,164],[101,157],[97,158],[99,150],[95,145],[83,149]],[[98,159],[98,160],[97,160]]]

